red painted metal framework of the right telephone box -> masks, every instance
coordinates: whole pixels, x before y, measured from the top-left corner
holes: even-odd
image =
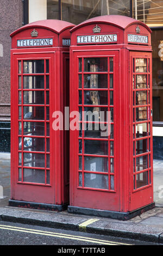
[[[101,31],[95,34],[93,33],[93,28],[96,25],[101,28]],[[108,111],[111,108],[114,109],[114,120],[111,120],[111,124],[114,125],[113,137],[111,135],[106,138],[95,137],[93,132],[89,136],[84,137],[84,131],[81,134],[77,130],[70,130],[70,206],[68,206],[70,212],[73,211],[73,207],[76,209],[90,208],[116,212],[131,212],[150,205],[153,203],[152,117],[150,112],[152,109],[151,29],[144,23],[131,19],[130,17],[105,15],[84,21],[78,26],[73,27],[70,32],[70,112],[78,111],[79,108],[84,111],[86,107],[106,107]],[[105,41],[93,42],[93,36],[108,34],[116,34],[117,41],[111,41],[109,43]],[[135,38],[132,37],[135,42],[134,40],[133,42],[129,42],[128,35],[130,34],[137,36]],[[79,41],[77,41],[78,36],[80,37]],[[81,36],[85,36],[85,38],[81,39]],[[87,39],[88,37],[86,38],[86,36],[92,36],[92,38]],[[146,41],[142,42],[137,38]],[[102,58],[106,58],[108,69],[104,71],[94,70],[94,72],[84,70],[84,61],[86,62],[88,60],[87,63],[91,63],[91,58],[97,58],[101,62]],[[109,60],[111,58],[113,58],[113,70],[109,70]],[[150,70],[144,70],[143,72],[142,70],[139,72],[134,70],[133,72],[133,61],[136,63],[137,59],[139,61],[141,59],[145,59],[146,61],[147,59],[147,66],[149,63]],[[90,74],[90,77],[91,75],[97,75],[98,77],[100,75],[108,76],[108,86],[104,86],[103,88],[96,87],[96,89],[87,87],[85,77],[88,74]],[[110,87],[111,82],[109,82],[111,75],[113,75],[114,81],[113,88]],[[150,86],[147,88],[133,89],[133,75],[135,77],[147,75],[147,84],[150,84]],[[108,102],[101,99],[100,104],[96,103],[96,105],[93,105],[91,103],[92,105],[86,105],[84,95],[93,91],[97,91],[97,94],[106,92],[108,97],[105,96],[105,100],[108,99]],[[147,95],[150,95],[150,99],[147,96],[146,104],[143,103],[140,105],[140,103],[137,103],[137,105],[133,105],[133,92],[135,93],[134,95],[140,96],[141,93],[139,94],[139,91],[142,94],[146,94],[147,92]],[[111,102],[111,96],[109,97],[109,94],[111,95],[112,92],[114,94],[113,104]],[[81,101],[79,101],[80,97],[82,97]],[[136,99],[136,96],[134,96],[134,101]],[[147,120],[134,120],[133,123],[133,109],[135,109],[135,114],[137,114],[138,112],[136,111],[141,111],[145,107],[149,109],[150,113],[149,115],[148,111],[146,112]],[[80,120],[79,123],[84,125],[88,121]],[[142,127],[140,128],[140,126],[143,126],[141,125],[142,123],[148,123],[151,127],[151,133],[147,133],[145,137],[143,136],[143,139],[147,139],[145,152],[143,151],[145,150],[143,146],[141,148],[141,143],[145,144],[145,141],[142,142],[141,137],[133,139],[133,127],[136,129],[134,125],[138,125],[137,127],[139,129],[144,129]],[[92,143],[89,152],[86,151],[87,141]],[[101,143],[101,149],[102,144],[106,143],[108,145],[106,154],[93,154],[93,150],[96,147],[95,143]],[[133,150],[134,143],[135,149]],[[112,148],[110,148],[112,144],[114,145],[114,155],[112,155]],[[151,144],[151,147],[149,147],[149,144]],[[80,150],[81,148],[82,150]],[[148,158],[147,166],[144,163],[146,156]],[[101,160],[104,161],[105,159],[108,165],[106,164],[104,166],[105,170],[103,170],[101,164],[101,168],[97,170],[97,161],[93,163],[94,170],[89,169],[86,166],[89,157],[90,159],[91,157],[92,159],[96,157],[96,160],[93,160],[94,162],[97,161],[97,158],[99,160],[100,157],[103,157]],[[149,157],[151,157],[151,166],[149,166]],[[112,159],[114,159],[114,172],[110,167]],[[133,159],[137,161],[135,162],[137,172],[136,170],[134,172],[133,169]],[[142,164],[140,164],[140,161],[142,161]],[[145,184],[145,176],[143,176],[146,174],[147,184]],[[107,185],[98,185],[99,179],[97,177],[101,177],[99,179],[105,179]],[[94,185],[91,183],[92,180],[96,180]],[[134,187],[133,184],[137,185],[137,187]],[[81,212],[82,210],[80,209]]]

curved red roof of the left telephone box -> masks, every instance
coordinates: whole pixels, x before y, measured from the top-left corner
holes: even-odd
[[[75,25],[67,22],[67,21],[61,21],[61,20],[40,20],[40,21],[35,21],[32,23],[29,23],[27,25],[24,25],[21,28],[18,28],[16,31],[12,32],[10,36],[14,36],[15,34],[24,31],[25,29],[28,28],[45,28],[53,31],[54,33],[60,34],[62,31],[68,28],[72,28]]]

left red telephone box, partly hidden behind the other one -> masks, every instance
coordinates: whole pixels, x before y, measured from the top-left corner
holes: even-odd
[[[70,29],[59,20],[11,33],[10,205],[62,210],[69,202],[68,131],[53,118],[69,106]]]

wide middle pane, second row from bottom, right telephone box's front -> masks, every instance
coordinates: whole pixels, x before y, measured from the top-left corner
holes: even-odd
[[[108,172],[108,157],[84,157],[84,170],[91,172]]]

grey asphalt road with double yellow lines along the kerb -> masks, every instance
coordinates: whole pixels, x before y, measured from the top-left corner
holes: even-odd
[[[131,246],[158,244],[79,231],[60,230],[0,221],[0,245],[55,245],[57,246],[56,252],[58,253],[77,255],[78,253],[106,253],[107,248],[111,245]],[[69,246],[69,249],[76,249],[76,251],[64,251],[66,246]]]

